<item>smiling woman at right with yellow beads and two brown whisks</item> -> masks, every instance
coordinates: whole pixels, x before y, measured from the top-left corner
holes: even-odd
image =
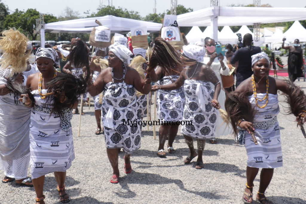
[[[226,111],[230,116],[236,140],[245,146],[248,155],[247,183],[242,201],[253,202],[253,181],[259,168],[262,168],[256,200],[263,204],[271,204],[272,202],[266,198],[264,193],[272,179],[274,168],[283,165],[281,137],[277,121],[279,113],[277,91],[282,91],[293,101],[295,96],[293,96],[294,91],[289,91],[289,86],[285,81],[268,76],[270,60],[264,52],[252,56],[252,70],[254,74],[244,80],[234,92],[229,93],[226,99]],[[294,89],[299,90],[297,86]],[[301,121],[304,121],[306,116],[305,95],[303,92],[299,93],[304,100],[297,102],[300,107],[303,107],[297,111],[299,113],[297,120],[303,117]],[[252,119],[253,121],[248,121]],[[254,136],[252,138],[252,132],[255,132],[255,138]]]

